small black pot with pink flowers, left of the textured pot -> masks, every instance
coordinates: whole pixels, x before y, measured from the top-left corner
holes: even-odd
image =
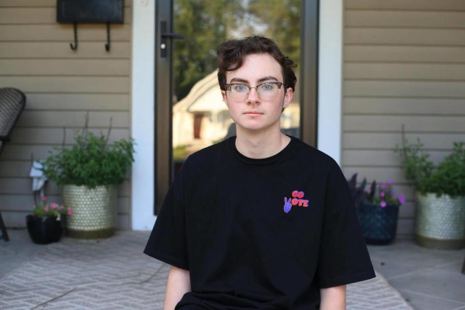
[[[47,203],[45,196],[41,196],[40,202],[32,207],[32,213],[26,216],[26,226],[32,241],[38,244],[59,241],[66,218],[73,214],[73,210],[57,202]]]

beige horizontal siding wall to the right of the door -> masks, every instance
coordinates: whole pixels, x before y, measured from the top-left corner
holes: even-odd
[[[414,187],[393,149],[402,124],[435,164],[465,141],[465,1],[345,0],[343,33],[344,173],[394,180],[398,234],[411,235]]]

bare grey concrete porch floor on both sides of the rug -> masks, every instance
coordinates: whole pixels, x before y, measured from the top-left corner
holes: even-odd
[[[10,241],[0,240],[0,279],[46,247],[32,243],[26,229],[9,229]],[[368,246],[380,272],[417,310],[465,310],[465,249],[431,250],[411,239],[387,246]]]

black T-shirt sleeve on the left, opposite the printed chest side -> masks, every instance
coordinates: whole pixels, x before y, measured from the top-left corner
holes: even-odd
[[[187,160],[168,189],[143,252],[172,266],[188,270],[184,199],[186,162]]]

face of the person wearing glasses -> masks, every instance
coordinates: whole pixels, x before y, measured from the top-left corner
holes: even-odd
[[[279,62],[269,54],[248,55],[239,69],[226,73],[227,84],[242,83],[255,87],[263,82],[284,82]],[[234,101],[229,91],[221,93],[236,125],[254,131],[273,125],[279,127],[281,111],[289,106],[292,99],[292,88],[284,92],[284,84],[273,100],[261,99],[255,88],[250,90],[247,99],[243,101]]]

